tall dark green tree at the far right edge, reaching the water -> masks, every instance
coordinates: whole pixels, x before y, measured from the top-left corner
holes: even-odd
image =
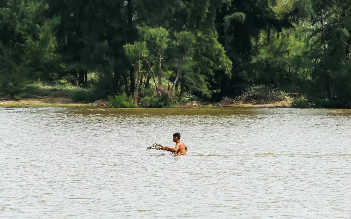
[[[317,105],[325,100],[327,107],[350,106],[350,6],[344,0],[297,0],[289,14],[308,30],[304,57],[311,77],[302,91]]]

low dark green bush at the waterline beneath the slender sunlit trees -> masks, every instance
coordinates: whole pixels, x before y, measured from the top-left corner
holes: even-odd
[[[145,108],[174,108],[175,101],[167,94],[162,93],[161,96],[146,96],[141,99],[140,106]]]

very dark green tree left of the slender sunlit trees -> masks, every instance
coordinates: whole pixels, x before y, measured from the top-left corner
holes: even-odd
[[[119,91],[128,67],[123,52],[127,38],[124,1],[46,1],[48,15],[60,18],[54,32],[58,51],[68,64],[66,73],[78,74],[78,84],[83,85],[88,72],[97,72],[102,80],[113,82],[108,93]]]

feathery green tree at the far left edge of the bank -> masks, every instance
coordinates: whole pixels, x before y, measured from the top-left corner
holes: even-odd
[[[31,80],[53,80],[59,69],[51,26],[39,0],[0,2],[0,93],[14,95]]]

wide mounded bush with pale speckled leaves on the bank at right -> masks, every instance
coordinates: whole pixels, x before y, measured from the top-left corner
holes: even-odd
[[[253,86],[243,95],[239,96],[239,102],[244,103],[270,103],[286,100],[288,95],[277,88],[266,87],[264,85]]]

